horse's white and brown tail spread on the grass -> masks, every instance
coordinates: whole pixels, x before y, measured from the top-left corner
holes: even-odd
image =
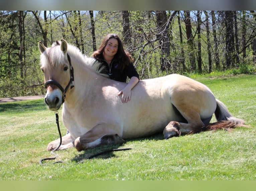
[[[216,99],[216,102],[217,107],[214,114],[217,119],[217,122],[210,123],[209,125],[202,127],[203,131],[218,129],[226,129],[229,131],[236,127],[247,126],[244,124],[244,120],[233,117],[224,103],[222,103],[218,99]]]

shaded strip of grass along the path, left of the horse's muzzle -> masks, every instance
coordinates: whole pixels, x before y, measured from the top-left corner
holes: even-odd
[[[0,112],[24,112],[46,110],[47,107],[43,99],[17,101],[0,104]]]

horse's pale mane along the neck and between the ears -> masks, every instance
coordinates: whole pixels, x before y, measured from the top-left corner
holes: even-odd
[[[60,46],[61,41],[55,41],[52,43],[51,47]],[[105,66],[102,65],[101,62],[97,61],[95,58],[88,58],[86,55],[83,55],[80,50],[74,45],[68,44],[68,53],[70,55],[75,56],[77,59],[83,61],[85,65],[91,68],[93,71],[98,73],[99,75],[109,78],[107,74],[104,74]]]

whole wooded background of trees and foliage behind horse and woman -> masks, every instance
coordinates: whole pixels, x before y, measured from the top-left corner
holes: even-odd
[[[90,57],[109,33],[141,79],[256,73],[256,11],[0,11],[0,97],[44,94],[39,41]]]

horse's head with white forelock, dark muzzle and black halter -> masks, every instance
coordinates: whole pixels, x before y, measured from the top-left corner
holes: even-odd
[[[41,52],[41,70],[44,73],[46,89],[44,102],[50,110],[58,110],[65,100],[69,87],[74,87],[74,71],[67,53],[68,44],[61,39],[61,44],[56,42],[50,48],[39,42],[38,48]]]

